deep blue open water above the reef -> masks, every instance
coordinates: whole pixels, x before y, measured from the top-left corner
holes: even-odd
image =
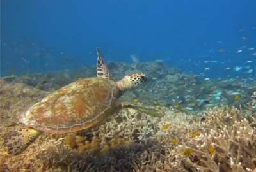
[[[94,65],[97,46],[108,61],[136,54],[204,77],[255,77],[256,1],[1,0],[2,76]]]

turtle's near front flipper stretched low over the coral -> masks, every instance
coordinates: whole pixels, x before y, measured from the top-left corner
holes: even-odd
[[[151,115],[152,117],[163,117],[164,116],[164,110],[159,107],[152,108],[152,107],[146,107],[146,106],[140,106],[140,105],[136,105],[136,104],[126,103],[126,102],[121,102],[119,104],[119,107],[120,108],[132,108],[132,109],[138,110],[142,113]]]

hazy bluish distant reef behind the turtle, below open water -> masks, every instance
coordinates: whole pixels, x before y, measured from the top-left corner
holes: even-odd
[[[250,101],[256,89],[255,81],[230,78],[226,80],[204,81],[196,75],[182,73],[179,69],[169,68],[164,62],[141,62],[126,64],[109,62],[114,80],[124,75],[142,71],[148,76],[147,84],[136,90],[130,90],[124,101],[137,99],[137,103],[149,106],[157,104],[168,106],[175,111],[198,113],[216,106],[232,105],[239,108]],[[78,78],[95,76],[95,67],[84,66],[74,70],[65,70],[30,75],[6,76],[6,82],[22,82],[40,90],[52,92]],[[179,106],[179,107],[178,107]],[[175,108],[176,107],[176,108]]]

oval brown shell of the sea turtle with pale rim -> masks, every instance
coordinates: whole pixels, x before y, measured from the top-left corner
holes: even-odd
[[[99,124],[115,111],[115,82],[86,78],[52,92],[29,108],[21,122],[49,133],[76,132]]]

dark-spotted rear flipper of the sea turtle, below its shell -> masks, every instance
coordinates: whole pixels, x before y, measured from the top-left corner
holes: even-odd
[[[9,154],[17,155],[25,150],[38,138],[40,131],[29,127],[22,127],[19,131],[11,131],[4,140],[4,147]]]

